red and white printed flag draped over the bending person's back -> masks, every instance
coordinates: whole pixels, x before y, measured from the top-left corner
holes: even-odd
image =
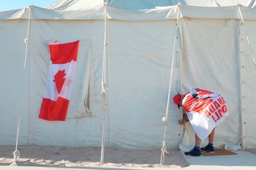
[[[197,136],[202,140],[228,115],[223,97],[202,89],[192,88],[182,100],[182,106]]]

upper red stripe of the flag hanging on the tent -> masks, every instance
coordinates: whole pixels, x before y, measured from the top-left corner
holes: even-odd
[[[77,60],[79,40],[72,43],[49,45],[52,64],[65,64]]]

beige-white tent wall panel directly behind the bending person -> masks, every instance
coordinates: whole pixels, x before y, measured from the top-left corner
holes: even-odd
[[[220,94],[226,101],[228,117],[216,127],[214,145],[236,145],[241,141],[239,126],[238,20],[182,19],[182,91],[191,85]],[[195,34],[200,30],[200,33]],[[212,37],[214,35],[214,38]],[[225,60],[225,62],[224,62]],[[223,63],[223,64],[222,64]],[[225,64],[224,64],[225,63]],[[225,72],[225,73],[224,73]],[[225,83],[222,83],[225,82]],[[236,125],[230,127],[230,125]],[[192,148],[195,132],[186,125],[180,148]],[[232,130],[231,130],[231,129]],[[189,130],[188,130],[189,129]],[[218,130],[220,129],[220,130]],[[230,141],[226,136],[234,136]],[[207,139],[203,145],[207,145]]]

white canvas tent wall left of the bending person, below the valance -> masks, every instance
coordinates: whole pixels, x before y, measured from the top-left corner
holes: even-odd
[[[26,37],[26,20],[13,20],[13,24],[22,22],[24,30],[14,38],[19,46],[19,60],[9,66],[8,74],[22,73],[24,59],[23,39]],[[7,21],[6,21],[7,23]],[[14,27],[13,27],[14,28]],[[72,28],[72,31],[70,31]],[[11,36],[6,24],[6,38]],[[122,31],[120,31],[122,30]],[[158,30],[158,31],[156,31]],[[15,29],[13,29],[15,31]],[[10,32],[10,33],[9,33]],[[159,148],[162,145],[168,83],[170,79],[170,61],[172,59],[175,21],[159,22],[108,22],[107,39],[107,83],[108,113],[106,117],[106,145],[124,148]],[[102,51],[104,22],[92,20],[56,21],[32,20],[29,34],[26,75],[20,80],[20,91],[26,89],[25,97],[19,94],[17,105],[24,107],[22,113],[12,113],[18,107],[12,107],[17,93],[15,82],[4,81],[10,93],[9,102],[1,105],[6,111],[3,121],[12,134],[1,139],[2,145],[14,145],[17,119],[21,114],[20,145],[36,144],[51,146],[100,146],[102,135],[102,98],[100,81],[102,77]],[[44,95],[49,67],[47,42],[53,39],[80,39],[76,80],[72,90],[67,121],[47,122],[38,118],[38,111]],[[9,43],[9,41],[8,41]],[[12,56],[12,52],[6,56]],[[4,60],[8,61],[8,57]],[[12,59],[13,60],[13,59]],[[177,69],[177,68],[175,68]],[[3,74],[3,72],[1,72]],[[178,71],[175,71],[178,73]],[[4,74],[2,75],[5,76]],[[173,76],[173,87],[177,89],[177,75]],[[89,87],[90,85],[90,87]],[[89,89],[88,89],[89,87]],[[88,96],[88,93],[90,94]],[[172,92],[172,96],[175,92]],[[92,117],[84,108],[89,97]],[[10,109],[11,108],[11,109]],[[11,114],[12,113],[12,114]],[[177,126],[180,115],[177,108],[170,106],[170,118],[167,131],[167,145],[177,148],[182,138],[182,127]],[[5,122],[5,123],[4,123]],[[8,124],[12,122],[12,125]],[[22,139],[23,138],[23,139]]]

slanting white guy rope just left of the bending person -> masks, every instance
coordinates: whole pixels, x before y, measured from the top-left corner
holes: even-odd
[[[171,95],[171,87],[172,87],[172,75],[173,75],[173,63],[174,63],[174,57],[175,57],[175,53],[176,53],[176,41],[178,38],[178,31],[179,31],[179,15],[180,15],[180,7],[181,4],[178,3],[177,4],[178,10],[177,10],[177,19],[176,19],[176,29],[175,29],[175,37],[174,37],[174,45],[173,45],[173,54],[172,54],[172,67],[171,67],[171,75],[170,75],[170,83],[169,83],[169,90],[168,90],[168,99],[167,99],[167,104],[166,104],[166,114],[165,117],[162,118],[163,122],[164,122],[164,137],[163,137],[163,145],[161,148],[161,159],[160,159],[160,165],[164,164],[164,154],[169,154],[167,152],[167,148],[166,148],[166,130],[167,130],[167,124],[168,124],[168,113],[169,113],[169,105],[170,105],[170,95]]]

